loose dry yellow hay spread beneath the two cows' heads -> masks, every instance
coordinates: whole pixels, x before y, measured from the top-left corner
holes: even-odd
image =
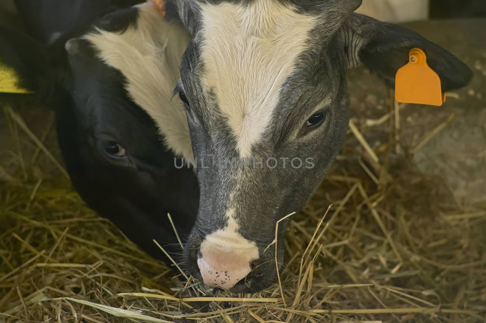
[[[355,124],[286,240],[274,241],[286,249],[278,282],[234,295],[186,281],[89,210],[62,176],[39,175],[20,147],[42,155],[43,139],[23,136],[26,125],[6,112],[0,322],[485,322],[485,208],[459,204],[440,178],[393,155],[396,143],[372,150]],[[369,156],[356,154],[355,138]]]

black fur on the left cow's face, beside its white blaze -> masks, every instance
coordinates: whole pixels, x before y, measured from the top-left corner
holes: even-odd
[[[174,167],[154,121],[124,90],[121,73],[102,63],[85,40],[69,57],[69,104],[57,107],[59,142],[71,180],[88,206],[115,223],[156,258],[152,242],[180,254],[167,213],[182,239],[193,226],[199,188],[192,169]],[[120,144],[127,161],[114,162],[100,140]],[[180,161],[178,161],[180,164]]]

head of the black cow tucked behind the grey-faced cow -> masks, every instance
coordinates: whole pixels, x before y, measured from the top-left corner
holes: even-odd
[[[75,108],[57,112],[59,121],[74,113],[76,149],[62,138],[73,133],[69,123],[58,125],[77,190],[130,239],[164,260],[152,240],[180,254],[167,213],[184,239],[199,197],[192,170],[174,168],[175,157],[192,154],[183,105],[172,99],[189,38],[150,3],[104,16],[65,43]]]

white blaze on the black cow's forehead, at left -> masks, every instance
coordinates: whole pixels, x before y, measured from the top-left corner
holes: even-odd
[[[128,94],[154,119],[174,153],[193,160],[184,107],[178,98],[171,100],[190,35],[165,20],[153,3],[137,7],[137,24],[126,31],[100,30],[84,38],[98,50],[100,59],[121,71]]]

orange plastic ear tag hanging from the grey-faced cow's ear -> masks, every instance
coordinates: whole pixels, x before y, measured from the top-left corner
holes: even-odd
[[[446,101],[440,78],[427,64],[427,56],[420,48],[410,50],[409,62],[397,71],[395,100],[441,106]]]

